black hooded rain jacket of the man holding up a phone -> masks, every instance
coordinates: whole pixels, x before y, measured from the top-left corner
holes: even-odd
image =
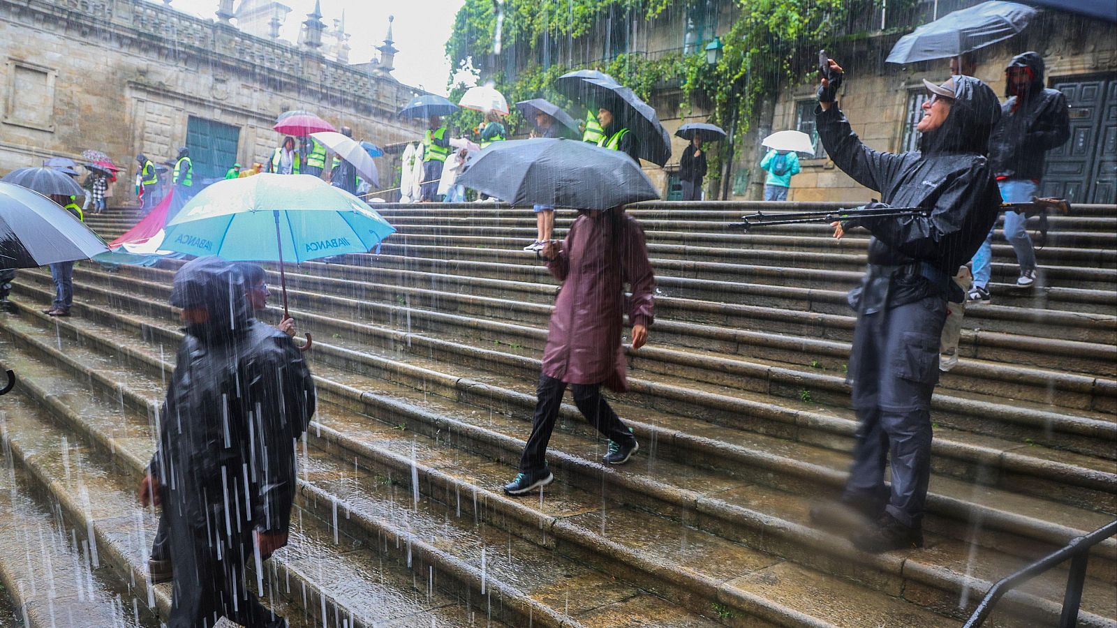
[[[871,313],[949,295],[949,277],[976,253],[996,220],[1001,194],[985,158],[990,130],[1000,116],[996,94],[981,80],[955,76],[955,101],[938,129],[924,133],[919,151],[884,153],[861,143],[834,103],[815,110],[819,136],[830,159],[858,183],[878,190],[891,207],[929,208],[930,216],[861,218],[869,268],[850,293],[850,305]],[[947,279],[944,282],[942,277]]]

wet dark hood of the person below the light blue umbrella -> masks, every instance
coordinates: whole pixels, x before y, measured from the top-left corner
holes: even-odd
[[[203,308],[204,323],[188,323],[187,333],[202,344],[222,344],[248,329],[251,313],[245,299],[245,276],[239,267],[220,257],[199,257],[174,275],[171,305]]]

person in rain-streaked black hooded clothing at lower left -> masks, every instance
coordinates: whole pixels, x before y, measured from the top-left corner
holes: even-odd
[[[251,318],[241,272],[216,257],[185,264],[171,305],[187,335],[159,417],[159,447],[140,487],[162,504],[174,586],[171,628],[223,616],[280,628],[245,567],[287,542],[295,441],[314,413],[311,373],[290,337]]]

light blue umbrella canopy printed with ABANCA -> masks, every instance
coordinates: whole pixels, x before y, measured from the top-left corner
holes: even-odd
[[[267,237],[276,234],[278,240]],[[353,194],[309,174],[218,181],[171,219],[162,248],[233,261],[306,261],[365,253],[395,229]]]

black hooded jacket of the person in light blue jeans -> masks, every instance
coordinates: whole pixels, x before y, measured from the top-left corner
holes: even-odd
[[[1005,80],[1009,99],[1001,105],[1001,121],[990,137],[989,159],[999,179],[1039,181],[1046,153],[1070,139],[1067,97],[1043,87],[1043,57],[1038,54],[1016,55],[1008,67],[1030,68],[1032,83],[1018,94],[1015,84]]]

